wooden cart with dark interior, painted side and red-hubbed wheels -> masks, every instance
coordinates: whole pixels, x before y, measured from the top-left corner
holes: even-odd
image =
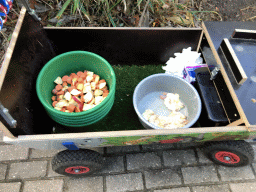
[[[53,158],[53,170],[71,176],[98,170],[103,158],[89,149],[106,146],[200,142],[215,163],[251,163],[253,149],[244,140],[254,139],[256,132],[254,30],[256,24],[251,22],[205,22],[202,28],[43,28],[23,7],[0,71],[3,140],[29,148],[63,150]],[[195,87],[203,109],[198,122],[188,129],[144,129],[132,106],[134,87],[129,83],[123,87],[126,96],[120,96],[122,87],[117,81],[112,110],[119,107],[120,114],[110,112],[95,130],[91,126],[76,132],[58,125],[36,95],[40,69],[64,52],[90,51],[116,68],[138,66],[143,70],[148,65],[161,68],[175,52],[187,47],[200,52],[209,66],[196,71]],[[133,77],[129,71],[116,76]],[[123,107],[127,102],[130,106]]]

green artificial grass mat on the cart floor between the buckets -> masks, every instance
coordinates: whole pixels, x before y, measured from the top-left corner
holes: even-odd
[[[112,66],[116,74],[116,94],[114,105],[108,115],[101,121],[86,127],[56,126],[55,133],[144,129],[133,107],[133,92],[138,83],[144,78],[156,73],[164,73],[162,66],[162,64]]]

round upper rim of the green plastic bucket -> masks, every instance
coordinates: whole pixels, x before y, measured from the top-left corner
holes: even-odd
[[[108,96],[98,105],[96,105],[92,110],[93,111],[96,111],[98,108],[100,108],[102,105],[105,105],[106,102],[109,100],[110,96],[115,94],[115,88],[116,88],[116,75],[115,75],[115,72],[112,68],[112,66],[109,64],[109,62],[104,59],[103,57],[101,57],[100,55],[97,55],[95,53],[92,53],[92,52],[89,52],[89,51],[69,51],[69,52],[66,52],[66,53],[62,53],[60,55],[57,55],[56,57],[52,58],[50,61],[48,61],[44,66],[43,68],[41,69],[41,71],[39,72],[39,75],[37,77],[37,80],[36,80],[36,93],[37,93],[37,96],[38,96],[38,99],[40,100],[40,102],[42,103],[42,105],[47,108],[47,110],[53,112],[53,113],[57,113],[58,115],[61,115],[61,116],[81,116],[81,115],[86,115],[86,114],[90,114],[92,111],[91,110],[88,110],[88,111],[81,111],[79,113],[65,113],[65,112],[62,112],[62,111],[58,111],[57,109],[54,109],[50,104],[50,106],[48,104],[46,104],[47,102],[42,100],[41,98],[43,97],[41,92],[39,91],[40,90],[40,86],[39,86],[39,83],[41,81],[41,77],[44,73],[44,71],[51,65],[51,63],[55,60],[58,60],[59,58],[61,58],[63,55],[70,55],[70,54],[74,54],[74,53],[78,53],[78,54],[83,54],[83,53],[86,53],[86,54],[90,54],[90,55],[93,55],[94,57],[104,61],[104,64],[107,65],[107,67],[110,69],[111,71],[111,76],[112,76],[112,81],[113,81],[113,85],[112,85],[112,89],[109,91],[109,94]]]

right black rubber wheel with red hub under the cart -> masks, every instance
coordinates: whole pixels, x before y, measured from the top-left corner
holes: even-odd
[[[243,140],[205,143],[203,152],[214,163],[227,167],[245,166],[254,159],[252,146]]]

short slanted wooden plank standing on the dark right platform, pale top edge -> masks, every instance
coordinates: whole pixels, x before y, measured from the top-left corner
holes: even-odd
[[[235,51],[233,50],[229,40],[227,38],[223,39],[221,42],[220,48],[227,59],[229,66],[232,70],[232,73],[238,84],[243,84],[247,80],[247,75],[244,72],[244,69],[239,62]]]

